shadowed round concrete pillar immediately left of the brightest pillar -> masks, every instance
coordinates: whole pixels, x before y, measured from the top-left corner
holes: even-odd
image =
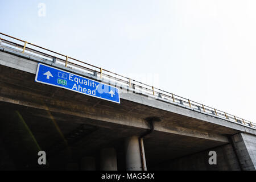
[[[100,155],[101,171],[117,171],[117,153],[114,148],[104,148]]]

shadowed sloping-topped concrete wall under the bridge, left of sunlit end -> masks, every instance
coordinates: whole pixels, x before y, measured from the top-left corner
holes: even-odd
[[[208,160],[210,158],[209,151],[216,151],[217,164],[210,165]],[[198,152],[196,154],[187,155],[179,159],[171,160],[169,162],[159,164],[154,169],[156,170],[202,170],[202,171],[225,171],[234,170],[240,171],[240,164],[233,150],[232,144],[225,144],[224,146],[212,148],[210,150]]]

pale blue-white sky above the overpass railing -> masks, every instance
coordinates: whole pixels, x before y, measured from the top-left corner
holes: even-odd
[[[0,32],[256,122],[256,1],[0,0],[0,8]]]

